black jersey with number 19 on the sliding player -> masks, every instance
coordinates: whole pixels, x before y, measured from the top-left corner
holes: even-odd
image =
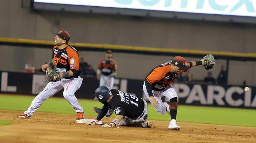
[[[113,109],[116,115],[135,119],[143,113],[145,105],[141,98],[115,89],[110,91],[113,98],[109,101],[108,107]]]

